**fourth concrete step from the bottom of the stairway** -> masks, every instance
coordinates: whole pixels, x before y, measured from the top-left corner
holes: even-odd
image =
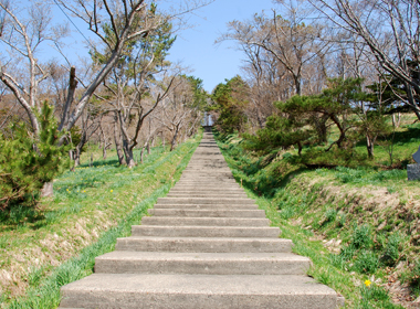
[[[156,237],[264,237],[277,238],[279,227],[269,226],[161,226],[133,225],[133,236]]]

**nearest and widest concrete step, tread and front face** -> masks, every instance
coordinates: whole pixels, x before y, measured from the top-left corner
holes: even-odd
[[[62,287],[60,308],[335,309],[336,292],[307,276],[94,274]]]

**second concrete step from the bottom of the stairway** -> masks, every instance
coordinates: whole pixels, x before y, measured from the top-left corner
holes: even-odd
[[[95,258],[95,273],[305,275],[311,259],[291,253],[112,252]]]

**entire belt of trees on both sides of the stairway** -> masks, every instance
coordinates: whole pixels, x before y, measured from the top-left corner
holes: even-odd
[[[376,145],[388,149],[391,168],[410,160],[395,160],[392,145],[400,113],[420,119],[420,1],[273,1],[217,40],[233,41],[244,62],[242,76],[211,95],[166,58],[183,18],[209,2],[161,10],[145,0],[1,0],[0,209],[77,166],[88,141],[104,158],[115,147],[132,168],[135,148],[140,162],[151,145],[172,150],[206,111],[269,160],[294,148],[307,167],[366,162]],[[65,56],[71,32],[52,18],[57,8],[88,29],[83,61]],[[45,57],[51,49],[63,61]],[[360,140],[366,153],[354,151]]]

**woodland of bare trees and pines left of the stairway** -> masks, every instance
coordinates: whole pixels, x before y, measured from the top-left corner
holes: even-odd
[[[1,0],[0,210],[32,203],[43,183],[80,164],[88,141],[104,158],[114,146],[132,168],[136,147],[172,150],[195,135],[207,103],[202,81],[166,56],[186,15],[207,3],[164,11],[144,0]],[[90,51],[77,63],[64,52],[72,33],[53,19],[57,9],[90,31],[81,32]]]

